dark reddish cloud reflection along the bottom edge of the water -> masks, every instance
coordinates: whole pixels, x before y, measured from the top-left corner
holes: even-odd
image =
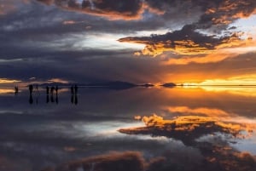
[[[164,170],[197,170],[197,171],[248,171],[253,170],[256,157],[247,152],[236,151],[225,143],[223,145],[204,144],[198,146],[204,157],[183,157],[183,151],[165,151],[160,157],[146,160],[138,151],[112,152],[100,156],[86,157],[66,162],[55,168],[45,168],[44,171],[164,171]],[[193,155],[193,154],[192,154]],[[186,160],[186,164],[184,164]]]

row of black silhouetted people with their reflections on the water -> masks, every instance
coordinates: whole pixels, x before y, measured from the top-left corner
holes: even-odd
[[[36,97],[36,103],[38,104],[38,97],[39,97],[39,91],[38,91],[38,85],[32,85],[30,84],[28,86],[28,90],[29,90],[29,103],[33,104],[33,93],[34,93],[34,87],[36,89],[35,93],[37,94]],[[74,86],[71,86],[70,90],[71,90],[71,103],[74,105],[78,105],[79,101],[78,101],[78,89],[79,87],[75,84]],[[58,90],[59,87],[56,86],[46,86],[46,103],[49,103],[49,101],[51,103],[55,103],[58,104],[59,103],[59,98],[58,98]],[[15,86],[15,94],[18,94],[19,89],[17,86]]]

